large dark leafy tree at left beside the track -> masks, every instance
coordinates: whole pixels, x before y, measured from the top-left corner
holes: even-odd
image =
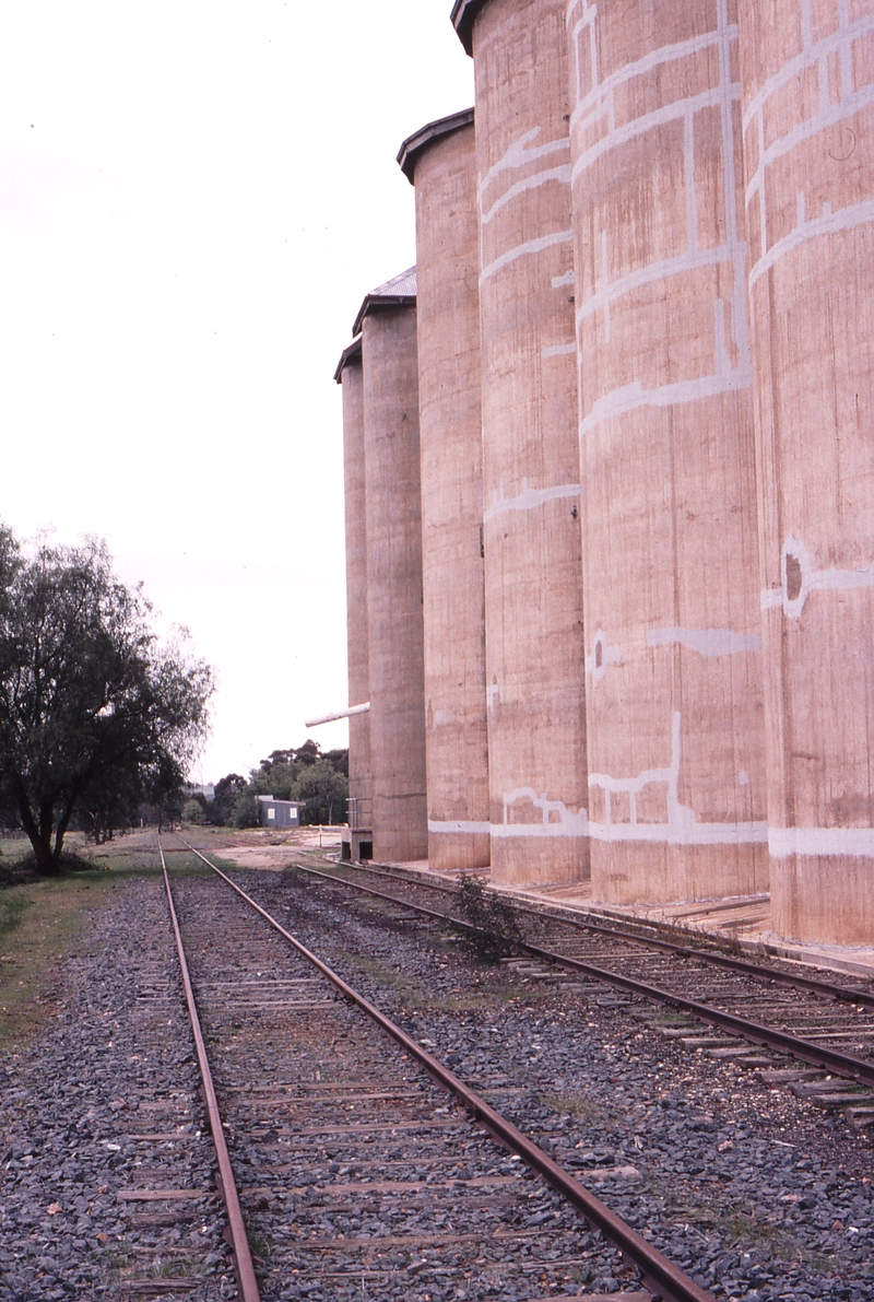
[[[185,630],[159,644],[151,611],[101,542],[25,552],[0,526],[0,802],[43,872],[74,815],[105,825],[160,802],[205,736],[212,671]]]

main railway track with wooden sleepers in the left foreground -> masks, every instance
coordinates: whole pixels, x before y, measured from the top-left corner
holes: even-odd
[[[593,1267],[622,1281],[616,1302],[711,1299],[189,849],[216,876],[166,891],[229,1219],[237,1198],[247,1226],[245,1302],[246,1240],[261,1295],[282,1302],[561,1299]]]

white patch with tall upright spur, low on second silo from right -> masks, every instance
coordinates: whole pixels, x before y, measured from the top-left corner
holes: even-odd
[[[596,841],[659,841],[667,845],[749,845],[767,841],[767,823],[698,823],[695,811],[680,805],[680,712],[671,720],[671,763],[669,768],[648,768],[636,777],[611,777],[590,773],[589,786],[605,792],[605,822],[589,823],[589,836]],[[667,822],[639,823],[637,797],[645,786],[666,786]],[[613,796],[623,793],[629,801],[629,822],[613,822]]]

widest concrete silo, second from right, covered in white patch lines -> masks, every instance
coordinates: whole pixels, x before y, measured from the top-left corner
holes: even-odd
[[[737,27],[568,7],[592,887],[767,889]]]

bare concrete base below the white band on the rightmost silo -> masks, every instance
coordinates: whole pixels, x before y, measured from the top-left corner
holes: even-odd
[[[813,944],[874,944],[874,857],[771,859],[771,931]]]

